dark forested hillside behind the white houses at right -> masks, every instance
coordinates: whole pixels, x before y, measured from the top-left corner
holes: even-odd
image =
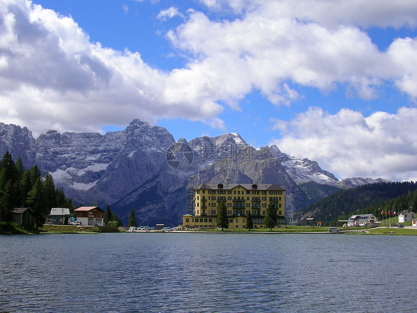
[[[291,222],[300,222],[307,217],[313,217],[316,221],[326,222],[347,219],[356,213],[378,214],[378,209],[383,209],[380,205],[383,201],[387,201],[386,203],[384,202],[384,209],[385,207],[389,208],[391,205],[391,209],[394,208],[397,211],[405,210],[410,206],[416,207],[417,203],[413,202],[414,198],[411,197],[416,190],[417,184],[413,181],[380,182],[339,190],[307,206],[304,210],[293,214]],[[406,197],[409,193],[411,200]]]

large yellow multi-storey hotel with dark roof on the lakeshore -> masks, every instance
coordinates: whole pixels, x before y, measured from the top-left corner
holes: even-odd
[[[225,200],[229,229],[244,229],[250,212],[254,228],[263,228],[265,212],[273,201],[277,228],[285,228],[285,189],[272,184],[202,183],[192,190],[193,214],[182,216],[183,228],[217,228],[217,208]]]

